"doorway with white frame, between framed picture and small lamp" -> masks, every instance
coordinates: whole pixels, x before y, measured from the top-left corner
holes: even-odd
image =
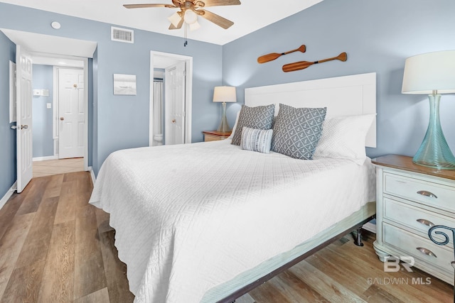
[[[149,146],[191,143],[193,57],[151,51]]]

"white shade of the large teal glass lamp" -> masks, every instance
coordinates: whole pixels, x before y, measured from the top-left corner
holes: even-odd
[[[455,93],[455,50],[425,53],[405,62],[403,94]]]

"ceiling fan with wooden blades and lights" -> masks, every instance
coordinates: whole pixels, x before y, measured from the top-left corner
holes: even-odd
[[[210,22],[222,28],[230,28],[234,23],[216,13],[205,11],[204,7],[209,6],[227,6],[240,5],[239,0],[172,0],[172,4],[124,4],[127,9],[143,9],[149,7],[167,7],[169,9],[180,9],[168,19],[171,21],[170,30],[181,28],[183,22],[188,23],[190,30],[199,28],[198,16],[207,19]]]

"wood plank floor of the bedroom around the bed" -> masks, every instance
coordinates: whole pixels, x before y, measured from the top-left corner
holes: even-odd
[[[1,303],[134,300],[109,215],[87,204],[91,191],[88,172],[38,177],[0,209]],[[453,302],[451,285],[415,268],[384,272],[374,236],[358,247],[346,235],[237,303]]]

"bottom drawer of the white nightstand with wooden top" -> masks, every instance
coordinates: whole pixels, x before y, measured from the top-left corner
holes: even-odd
[[[383,228],[384,242],[388,245],[395,246],[395,248],[416,258],[416,263],[422,260],[429,265],[435,265],[441,270],[452,272],[453,274],[454,269],[451,267],[451,261],[454,260],[453,248],[439,246],[429,239],[416,236],[386,223],[383,224]],[[435,256],[422,253],[417,248],[427,249]],[[400,256],[397,255],[397,257]]]

